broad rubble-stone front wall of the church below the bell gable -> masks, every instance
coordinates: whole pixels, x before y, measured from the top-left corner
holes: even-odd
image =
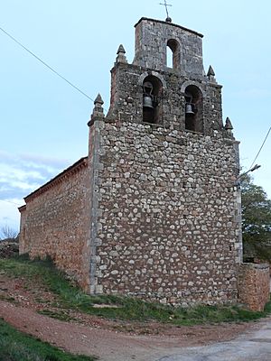
[[[237,142],[157,125],[98,126],[96,291],[237,301]]]

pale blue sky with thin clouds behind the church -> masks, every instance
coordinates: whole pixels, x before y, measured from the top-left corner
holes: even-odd
[[[0,27],[108,109],[118,45],[134,58],[137,21],[166,17],[164,0],[9,0]],[[203,63],[223,86],[223,118],[248,171],[271,125],[271,2],[170,0],[170,16],[204,35]],[[0,31],[0,228],[19,229],[23,197],[88,153],[93,102]],[[253,173],[271,198],[271,134]]]

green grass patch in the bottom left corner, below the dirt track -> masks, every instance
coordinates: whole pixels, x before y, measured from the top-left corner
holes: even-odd
[[[77,356],[25,335],[0,319],[0,360],[2,361],[94,361],[96,357]]]

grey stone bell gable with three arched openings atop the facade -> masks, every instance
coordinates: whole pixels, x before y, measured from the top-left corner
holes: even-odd
[[[174,23],[140,19],[133,62],[122,45],[117,51],[107,118],[230,137],[222,122],[221,86],[211,67],[207,75],[203,69],[202,36]]]

